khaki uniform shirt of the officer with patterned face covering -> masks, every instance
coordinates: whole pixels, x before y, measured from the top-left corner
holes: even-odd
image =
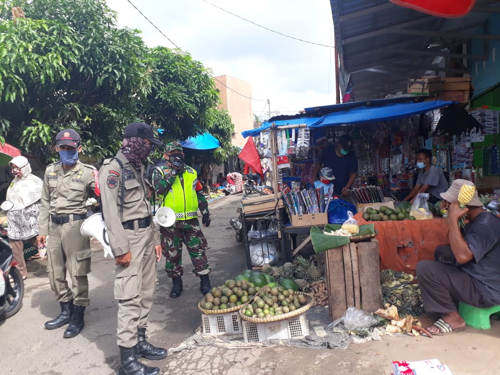
[[[152,215],[150,185],[145,176],[144,166],[141,166],[140,171],[138,171],[121,151],[118,151],[116,158],[123,164],[123,177],[120,164],[115,159],[104,160],[99,170],[102,214],[106,223],[109,245],[114,256],[130,251],[127,236],[130,229],[124,229],[122,222]],[[121,184],[123,182],[124,198],[123,213],[121,213]],[[152,219],[151,225],[154,227]],[[156,245],[160,244],[157,230],[154,230],[154,242]]]

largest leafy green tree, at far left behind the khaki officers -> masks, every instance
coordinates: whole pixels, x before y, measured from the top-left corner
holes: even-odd
[[[13,5],[25,18],[12,19]],[[104,0],[3,1],[1,133],[45,160],[65,127],[96,158],[113,153],[150,90],[147,50],[138,31],[116,27]]]

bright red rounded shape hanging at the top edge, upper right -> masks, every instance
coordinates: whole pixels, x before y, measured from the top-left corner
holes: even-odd
[[[390,0],[396,5],[415,9],[438,17],[461,17],[467,14],[475,0]]]

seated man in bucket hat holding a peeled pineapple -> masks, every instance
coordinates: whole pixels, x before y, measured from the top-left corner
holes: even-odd
[[[500,305],[500,218],[484,210],[472,182],[455,179],[442,192],[448,210],[449,245],[416,266],[423,307],[442,316],[427,330],[443,335],[465,329],[458,301],[476,307]],[[463,218],[468,223],[462,226]]]

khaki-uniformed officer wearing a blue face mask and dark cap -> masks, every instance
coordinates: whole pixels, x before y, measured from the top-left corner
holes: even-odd
[[[85,202],[94,196],[97,171],[78,159],[80,136],[74,130],[57,133],[55,150],[60,161],[45,170],[36,239],[43,244],[48,235],[48,278],[61,307],[61,313],[47,321],[45,328],[59,328],[69,322],[64,331],[64,337],[69,338],[83,328],[83,312],[89,303],[90,242],[80,234],[80,226],[87,212]]]

